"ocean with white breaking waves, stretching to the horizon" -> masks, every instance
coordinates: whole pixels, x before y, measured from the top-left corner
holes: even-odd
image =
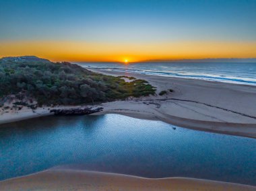
[[[256,63],[77,63],[82,67],[256,85]]]

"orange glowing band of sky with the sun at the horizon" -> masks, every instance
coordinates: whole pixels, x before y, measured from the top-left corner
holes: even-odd
[[[35,55],[51,61],[119,63],[175,59],[255,58],[256,42],[183,41],[135,44],[75,41],[0,41],[0,57],[22,55]]]

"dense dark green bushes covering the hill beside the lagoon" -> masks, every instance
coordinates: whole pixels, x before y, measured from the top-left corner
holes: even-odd
[[[0,79],[2,102],[6,96],[15,95],[20,100],[32,98],[39,106],[108,102],[129,96],[150,95],[156,91],[145,80],[134,79],[128,83],[121,77],[102,75],[71,63],[52,63],[45,59],[0,59]]]

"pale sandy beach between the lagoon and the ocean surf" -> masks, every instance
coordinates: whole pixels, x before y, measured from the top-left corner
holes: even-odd
[[[137,79],[146,79],[157,87],[157,94],[163,90],[173,90],[173,92],[168,91],[165,95],[103,103],[100,106],[104,110],[96,113],[97,115],[123,114],[134,118],[162,120],[185,128],[256,138],[255,86],[134,73],[93,71],[106,75],[126,75]],[[49,108],[46,107],[38,108],[34,112],[26,109],[2,113],[0,123],[46,115],[49,115]]]

